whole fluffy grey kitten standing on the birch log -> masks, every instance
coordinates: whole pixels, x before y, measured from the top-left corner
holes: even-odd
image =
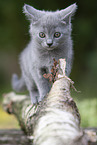
[[[33,104],[42,101],[51,88],[43,74],[50,73],[53,58],[57,61],[59,58],[66,58],[67,76],[71,72],[71,17],[76,8],[77,5],[73,4],[66,9],[51,12],[24,5],[24,13],[30,20],[31,41],[20,54],[22,75],[20,79],[16,74],[13,75],[12,87],[16,91],[27,87]]]

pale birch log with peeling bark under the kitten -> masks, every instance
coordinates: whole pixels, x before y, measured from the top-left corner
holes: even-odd
[[[80,128],[80,114],[70,96],[73,82],[65,75],[65,67],[65,59],[60,59],[58,78],[39,105],[13,92],[4,97],[4,109],[17,117],[33,145],[88,145],[97,139],[95,132]]]

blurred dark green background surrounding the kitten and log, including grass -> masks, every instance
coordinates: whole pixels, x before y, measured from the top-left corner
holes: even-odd
[[[77,3],[72,19],[74,63],[71,79],[81,93],[72,92],[77,101],[83,127],[97,126],[97,0],[0,0],[0,101],[12,91],[12,73],[20,74],[19,53],[29,42],[29,22],[22,13],[24,3],[37,9],[57,10]],[[13,116],[0,107],[0,128],[17,128]]]

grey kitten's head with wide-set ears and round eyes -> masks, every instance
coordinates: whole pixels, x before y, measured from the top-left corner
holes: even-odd
[[[64,10],[50,12],[24,5],[24,13],[31,22],[30,35],[40,48],[53,50],[67,41],[71,35],[71,17],[76,8],[77,5],[73,4]]]

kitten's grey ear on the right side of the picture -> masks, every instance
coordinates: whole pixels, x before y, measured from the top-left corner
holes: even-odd
[[[77,9],[77,5],[76,5],[76,3],[75,3],[75,4],[72,4],[71,6],[67,7],[67,8],[64,9],[64,10],[61,10],[61,11],[60,11],[61,21],[62,21],[64,24],[70,24],[70,22],[71,22],[71,17],[72,17],[72,15],[74,15],[76,9]]]

